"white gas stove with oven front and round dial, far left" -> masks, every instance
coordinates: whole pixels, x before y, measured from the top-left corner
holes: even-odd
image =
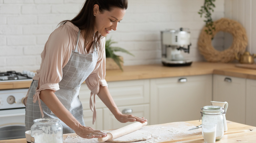
[[[34,72],[0,72],[0,83],[32,81]],[[0,85],[1,86],[1,85]],[[29,88],[0,90],[0,140],[25,138],[25,98]]]

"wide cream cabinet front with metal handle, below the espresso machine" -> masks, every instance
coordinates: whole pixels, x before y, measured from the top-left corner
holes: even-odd
[[[199,120],[212,99],[212,75],[151,79],[151,124]]]

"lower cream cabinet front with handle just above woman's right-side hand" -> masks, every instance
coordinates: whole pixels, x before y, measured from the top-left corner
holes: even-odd
[[[127,111],[127,114],[132,114],[137,117],[145,117],[145,119],[148,119],[148,125],[149,125],[149,121],[150,121],[149,120],[149,104],[120,106],[118,107],[118,109],[121,112]],[[129,112],[130,110],[132,112]],[[104,130],[118,129],[132,123],[132,122],[121,123],[117,121],[115,116],[110,112],[108,108],[104,108],[103,113],[104,113],[104,118],[103,118]]]

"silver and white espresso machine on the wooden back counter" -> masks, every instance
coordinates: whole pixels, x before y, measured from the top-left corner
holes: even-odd
[[[188,28],[161,31],[162,64],[164,66],[190,66],[192,60],[184,59],[183,50],[189,53],[190,32]]]

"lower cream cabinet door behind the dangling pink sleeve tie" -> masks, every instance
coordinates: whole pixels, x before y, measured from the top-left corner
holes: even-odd
[[[96,109],[96,121],[93,124],[93,112],[92,110],[83,110],[84,123],[87,127],[92,127],[96,130],[103,130],[103,109]]]

